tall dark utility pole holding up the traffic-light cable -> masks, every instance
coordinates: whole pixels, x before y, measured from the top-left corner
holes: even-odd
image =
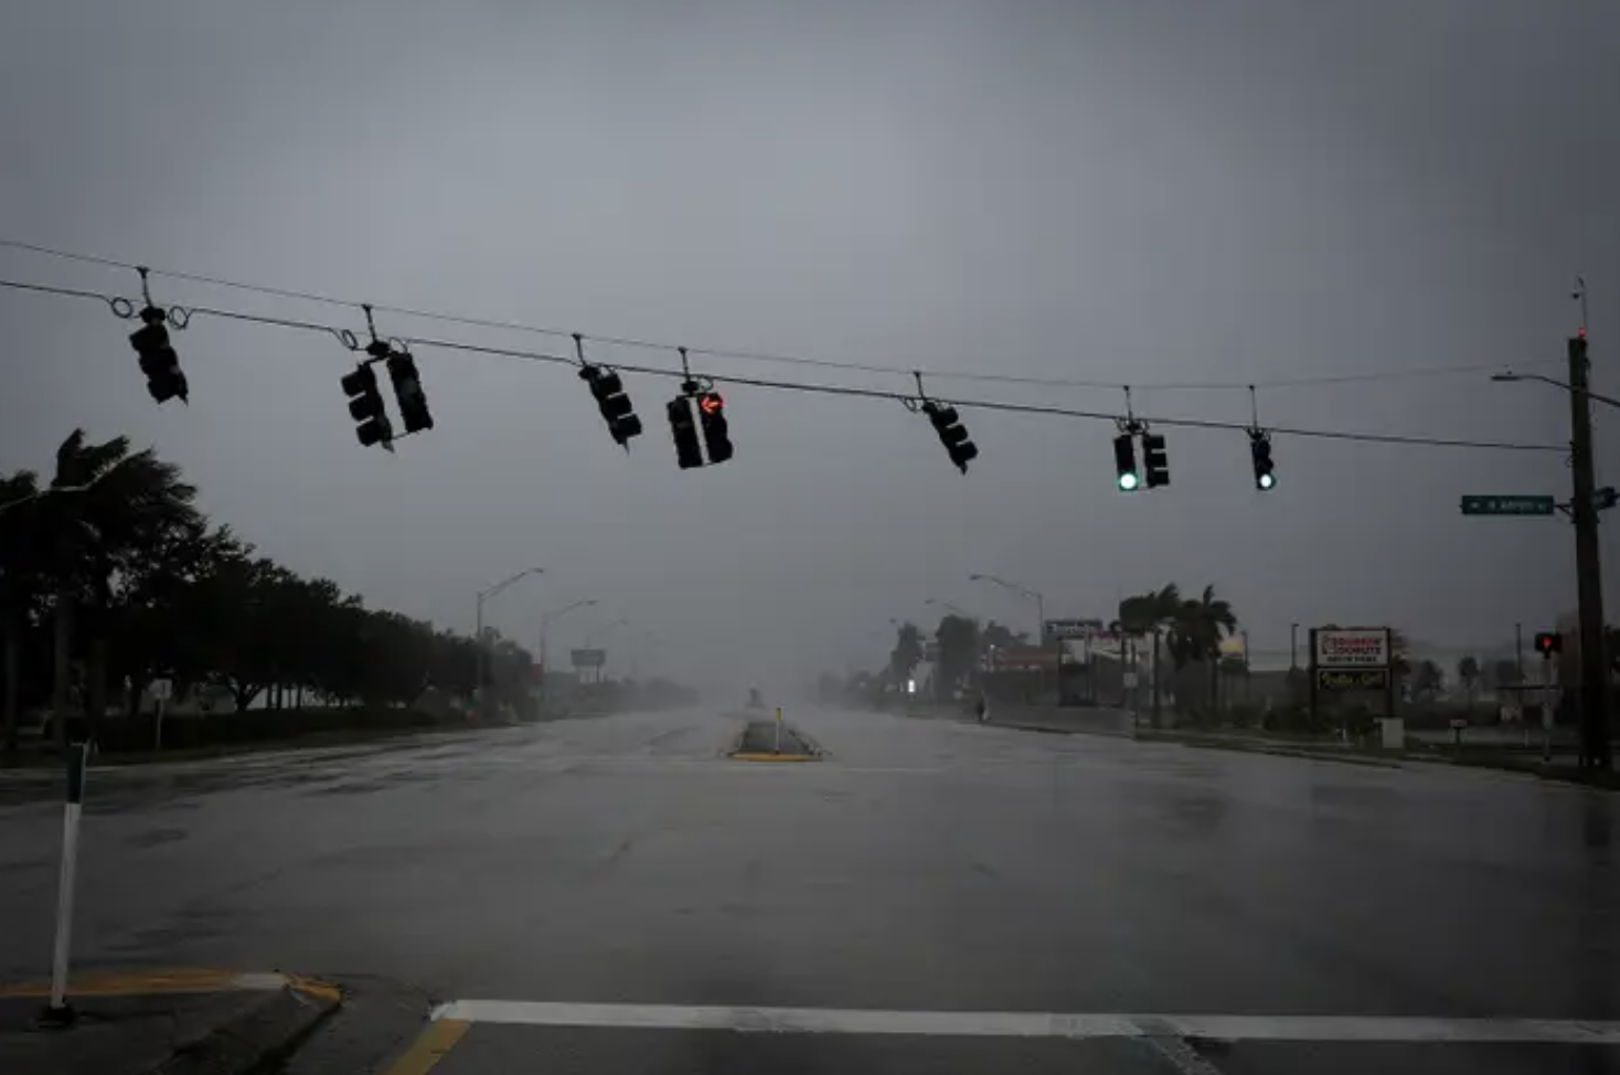
[[[1581,290],[1584,306],[1584,289]],[[1586,324],[1570,339],[1570,516],[1575,520],[1575,592],[1581,637],[1581,769],[1610,769],[1609,660],[1604,653],[1602,555],[1592,467],[1591,362]]]

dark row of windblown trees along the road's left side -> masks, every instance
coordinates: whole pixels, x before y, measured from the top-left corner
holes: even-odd
[[[468,697],[478,642],[366,608],[330,579],[259,555],[196,508],[196,486],[128,438],[75,430],[49,480],[0,475],[3,743],[19,712],[81,707],[91,735],[109,709],[138,715],[157,678],[177,696],[227,691],[237,710],[326,704],[408,705],[436,687]],[[526,697],[530,655],[486,639],[492,697]],[[110,694],[112,691],[112,694]],[[62,735],[66,723],[58,722]]]

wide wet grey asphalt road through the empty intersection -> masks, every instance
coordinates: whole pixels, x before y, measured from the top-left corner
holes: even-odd
[[[723,760],[739,723],[684,710],[92,772],[76,958],[658,1010],[1620,1020],[1617,796],[787,717],[825,760]],[[42,793],[0,773],[0,979],[49,970]],[[744,1069],[1620,1072],[1620,1047],[476,1021],[436,1075]]]

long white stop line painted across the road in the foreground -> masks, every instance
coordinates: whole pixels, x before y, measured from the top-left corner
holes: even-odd
[[[1620,1046],[1620,1020],[1424,1018],[1380,1015],[1058,1015],[1042,1012],[883,1012],[666,1004],[455,1000],[433,1018],[528,1026],[732,1030],[787,1034],[957,1038],[1212,1038],[1217,1041],[1531,1043]]]

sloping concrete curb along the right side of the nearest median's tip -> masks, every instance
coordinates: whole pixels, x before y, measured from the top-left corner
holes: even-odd
[[[280,1067],[343,1005],[329,983],[287,974],[280,989],[228,1023],[177,1041],[152,1075],[261,1075]]]

